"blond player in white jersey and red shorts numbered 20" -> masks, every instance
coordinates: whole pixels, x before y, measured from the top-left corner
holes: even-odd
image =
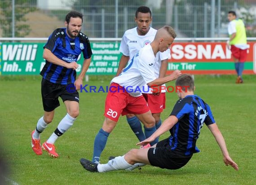
[[[163,78],[154,76],[154,65],[159,57],[158,52],[170,48],[175,37],[176,33],[172,27],[160,28],[154,40],[141,48],[122,73],[111,80],[105,102],[105,120],[94,141],[94,163],[100,162],[100,155],[106,146],[107,138],[115,128],[120,115],[134,114],[146,128],[153,132],[156,130],[155,120],[147,102],[140,90],[136,89],[143,89],[145,84],[160,86],[181,75],[181,71],[175,70],[171,75]]]

